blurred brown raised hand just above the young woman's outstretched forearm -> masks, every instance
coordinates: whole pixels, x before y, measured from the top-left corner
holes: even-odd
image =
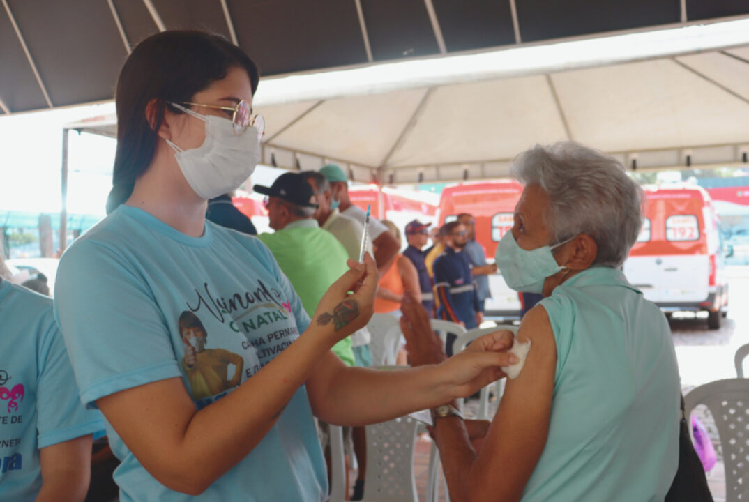
[[[439,364],[446,360],[443,342],[431,329],[426,309],[410,291],[404,294],[401,312],[401,331],[406,338],[410,365]]]

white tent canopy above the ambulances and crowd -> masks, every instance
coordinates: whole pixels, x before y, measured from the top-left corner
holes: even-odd
[[[518,152],[572,139],[629,169],[746,163],[748,43],[749,19],[733,19],[266,79],[262,162],[380,184],[498,178]]]

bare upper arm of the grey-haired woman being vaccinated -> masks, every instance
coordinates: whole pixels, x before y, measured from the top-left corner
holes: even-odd
[[[500,407],[471,470],[469,489],[479,491],[471,500],[518,500],[546,444],[557,344],[543,306],[526,314],[517,338],[530,339],[531,349],[520,375],[506,383]]]

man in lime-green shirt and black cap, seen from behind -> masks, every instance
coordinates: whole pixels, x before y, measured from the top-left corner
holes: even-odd
[[[255,185],[255,192],[267,196],[270,228],[276,231],[258,238],[273,253],[312,317],[325,291],[348,270],[348,253],[313,217],[318,205],[303,176],[287,172],[271,187]],[[333,352],[348,366],[354,366],[350,337],[333,345]]]

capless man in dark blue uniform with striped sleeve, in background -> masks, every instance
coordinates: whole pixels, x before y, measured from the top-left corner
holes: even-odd
[[[479,326],[484,318],[476,297],[473,272],[463,248],[468,241],[466,226],[459,222],[446,224],[449,241],[445,252],[434,260],[434,285],[440,300],[437,317],[462,324],[467,330]],[[448,334],[446,350],[452,351],[455,335]]]

